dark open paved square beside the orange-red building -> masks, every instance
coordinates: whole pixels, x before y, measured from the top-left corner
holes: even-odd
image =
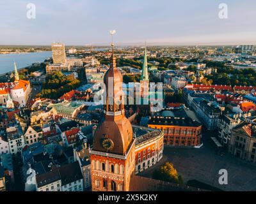
[[[209,139],[210,135],[204,137],[201,149],[164,147],[163,159],[140,175],[151,177],[156,168],[170,161],[182,176],[184,184],[188,180],[198,180],[224,191],[256,191],[256,164],[228,153],[220,156]],[[221,169],[228,171],[228,185],[220,185],[218,182]]]

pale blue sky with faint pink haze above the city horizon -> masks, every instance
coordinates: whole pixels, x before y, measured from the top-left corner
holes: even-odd
[[[255,0],[1,0],[0,45],[109,45],[111,30],[116,45],[255,45],[255,9]]]

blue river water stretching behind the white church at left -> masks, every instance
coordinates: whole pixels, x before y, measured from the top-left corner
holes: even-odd
[[[29,52],[23,54],[0,54],[0,74],[13,71],[13,61],[16,62],[17,68],[25,68],[36,62],[44,62],[51,57],[51,51]]]

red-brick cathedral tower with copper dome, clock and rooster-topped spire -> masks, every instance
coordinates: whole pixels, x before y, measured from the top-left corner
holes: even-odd
[[[105,117],[95,131],[90,150],[93,191],[129,191],[135,166],[135,140],[131,123],[124,115],[123,77],[116,68],[113,47],[112,43],[110,68],[104,75]]]

